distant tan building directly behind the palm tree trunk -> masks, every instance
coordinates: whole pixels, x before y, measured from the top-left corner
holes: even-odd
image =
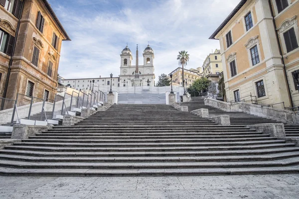
[[[183,69],[181,67],[178,67],[168,75],[172,74],[172,85],[177,85],[182,87],[183,86],[183,78],[182,78],[182,72]],[[185,86],[189,87],[192,85],[192,83],[197,80],[198,78],[201,78],[199,75],[199,72],[192,71],[188,69],[184,69],[184,79],[185,79]]]

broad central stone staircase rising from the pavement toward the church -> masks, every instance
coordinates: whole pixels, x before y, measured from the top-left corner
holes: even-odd
[[[0,174],[229,175],[299,172],[299,147],[169,105],[119,104],[0,150]]]

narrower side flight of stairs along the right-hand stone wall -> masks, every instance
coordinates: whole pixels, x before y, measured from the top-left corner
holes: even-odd
[[[188,106],[188,110],[196,110],[198,108],[209,109],[209,115],[228,114],[230,116],[231,125],[249,125],[260,123],[281,123],[280,121],[269,119],[266,117],[259,117],[245,112],[228,112],[212,106],[204,105],[204,97],[191,98],[188,102],[182,102],[181,105]],[[285,124],[286,136],[299,137],[299,125]]]

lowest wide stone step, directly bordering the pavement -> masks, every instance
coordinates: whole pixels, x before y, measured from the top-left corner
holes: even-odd
[[[250,167],[250,168],[205,168],[205,169],[15,169],[0,167],[1,175],[10,176],[206,176],[206,175],[254,175],[298,173],[298,166]]]

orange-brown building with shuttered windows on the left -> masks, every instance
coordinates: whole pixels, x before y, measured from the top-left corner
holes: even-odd
[[[70,38],[47,0],[0,0],[0,97],[54,100],[63,40]]]

